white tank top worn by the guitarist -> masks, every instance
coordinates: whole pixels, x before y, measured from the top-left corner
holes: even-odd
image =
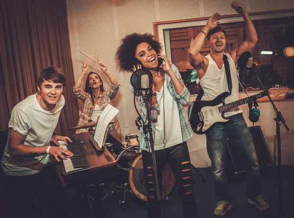
[[[224,55],[228,57],[232,78],[232,94],[225,98],[225,103],[228,104],[239,100],[239,81],[238,71],[232,57],[230,54],[224,53]],[[209,64],[204,77],[200,80],[200,84],[203,88],[205,99],[207,101],[211,101],[218,97],[222,92],[228,92],[229,88],[225,75],[224,64],[220,69],[210,54],[205,57],[208,58]],[[226,112],[224,113],[224,116],[228,117],[238,113],[242,113],[242,110]]]

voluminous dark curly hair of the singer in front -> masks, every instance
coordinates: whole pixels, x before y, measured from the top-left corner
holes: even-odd
[[[152,34],[132,33],[122,39],[122,44],[116,52],[116,61],[120,70],[133,72],[133,64],[139,60],[135,57],[137,46],[142,43],[148,43],[156,53],[161,53],[162,47],[160,42],[154,39]]]

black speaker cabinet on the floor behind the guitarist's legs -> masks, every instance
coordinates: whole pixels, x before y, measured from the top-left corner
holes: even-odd
[[[255,151],[258,157],[258,163],[260,168],[266,166],[272,166],[272,160],[270,157],[269,149],[266,144],[265,138],[261,131],[260,126],[249,127],[249,131],[253,138]],[[231,144],[230,140],[227,140],[226,147],[226,173],[227,174],[238,174],[245,172],[245,164],[236,151],[235,146]]]

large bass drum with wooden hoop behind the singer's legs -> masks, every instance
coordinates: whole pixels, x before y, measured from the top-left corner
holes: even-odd
[[[131,192],[138,199],[147,202],[142,153],[140,152],[139,146],[133,145],[127,147],[118,155],[116,161],[121,166],[119,178],[115,181],[117,187],[121,189],[122,185],[127,183]],[[175,179],[170,165],[165,164],[164,170],[166,170],[166,196],[163,193],[162,198],[167,197],[175,185]]]

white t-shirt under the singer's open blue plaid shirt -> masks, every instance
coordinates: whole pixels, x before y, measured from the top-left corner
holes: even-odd
[[[165,81],[160,92],[156,92],[159,104],[155,127],[154,150],[172,147],[183,142],[179,109]],[[164,131],[165,130],[165,131]],[[166,144],[164,146],[163,140]]]

